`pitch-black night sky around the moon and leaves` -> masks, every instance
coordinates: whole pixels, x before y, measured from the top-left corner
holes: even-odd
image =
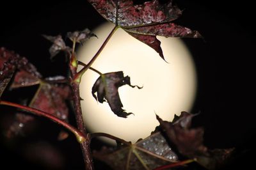
[[[193,54],[198,73],[198,91],[192,112],[201,112],[195,118],[195,126],[205,127],[205,145],[209,148],[236,147],[238,155],[231,167],[253,165],[255,151],[255,94],[254,58],[256,34],[255,16],[249,1],[175,1],[184,10],[175,22],[196,29],[204,40],[184,39]],[[33,63],[44,77],[65,75],[63,58],[53,63],[49,59],[50,43],[45,35],[63,36],[68,31],[93,29],[104,19],[84,1],[32,1],[0,4],[0,47],[15,50]],[[160,59],[160,58],[159,58]],[[189,84],[188,84],[189,86]],[[4,120],[6,113],[1,113]],[[74,118],[70,116],[71,122]],[[3,121],[1,121],[2,124]],[[65,169],[81,169],[83,160],[79,145],[72,135],[65,141],[57,141],[60,127],[50,121],[40,121],[36,133],[19,142],[6,142],[1,125],[1,164],[20,168],[49,169],[31,162],[22,155],[26,144],[46,141],[56,147],[63,156]],[[38,135],[40,134],[40,135]],[[3,138],[3,139],[2,139]],[[9,143],[9,144],[6,144]],[[12,146],[12,147],[11,147]],[[95,141],[94,148],[99,148]],[[12,163],[8,164],[7,162]],[[64,169],[64,167],[60,167]],[[100,169],[100,166],[97,167]]]

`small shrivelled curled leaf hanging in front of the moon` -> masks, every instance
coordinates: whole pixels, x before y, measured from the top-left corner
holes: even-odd
[[[123,104],[120,100],[118,88],[124,86],[125,84],[131,86],[132,88],[139,86],[132,86],[130,77],[124,77],[123,72],[111,72],[102,74],[97,81],[93,84],[92,95],[95,100],[100,103],[108,102],[111,110],[119,117],[127,118],[131,112],[127,113],[122,109]],[[97,97],[95,93],[97,92]]]

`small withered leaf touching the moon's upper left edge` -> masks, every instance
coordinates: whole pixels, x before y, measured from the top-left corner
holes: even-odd
[[[82,44],[85,40],[87,40],[88,38],[91,38],[92,36],[96,36],[96,35],[93,34],[88,28],[84,29],[83,31],[74,31],[74,32],[67,33],[67,37],[72,42],[78,42]]]

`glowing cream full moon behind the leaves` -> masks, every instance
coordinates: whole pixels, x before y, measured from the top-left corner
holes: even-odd
[[[93,30],[98,38],[90,38],[79,47],[78,58],[88,63],[115,27],[105,23]],[[92,86],[99,74],[88,70],[81,82],[81,105],[84,123],[90,132],[104,132],[136,143],[150,135],[159,125],[156,114],[172,121],[174,114],[189,111],[196,93],[196,71],[186,45],[179,38],[157,37],[164,58],[148,45],[118,29],[93,63],[102,73],[123,71],[131,84],[142,89],[122,86],[118,89],[123,109],[132,112],[128,118],[114,114],[108,103],[100,104],[92,97]]]

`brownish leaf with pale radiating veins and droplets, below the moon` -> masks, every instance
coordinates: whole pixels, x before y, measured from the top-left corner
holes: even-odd
[[[160,132],[135,144],[123,144],[122,148],[102,148],[94,151],[93,157],[106,162],[113,169],[154,169],[178,161]]]

